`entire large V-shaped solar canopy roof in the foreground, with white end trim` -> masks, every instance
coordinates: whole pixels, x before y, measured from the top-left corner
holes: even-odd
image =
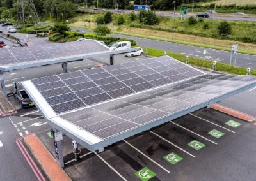
[[[89,150],[254,85],[254,76],[205,74],[168,56],[22,82],[49,124]]]

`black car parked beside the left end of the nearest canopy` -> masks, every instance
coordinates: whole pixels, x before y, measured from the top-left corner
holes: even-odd
[[[16,89],[16,91],[13,92],[13,94],[14,94],[14,99],[19,103],[21,108],[34,105],[33,101],[31,101],[31,99],[29,98],[28,94],[24,89],[22,90]]]

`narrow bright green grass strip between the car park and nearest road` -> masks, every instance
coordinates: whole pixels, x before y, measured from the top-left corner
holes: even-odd
[[[136,47],[141,47],[141,46],[136,46]],[[164,55],[164,51],[162,51],[162,50],[156,50],[156,49],[147,48],[147,47],[141,47],[141,48],[143,48],[144,53],[147,49],[148,55],[152,55],[154,57],[159,57],[159,56]],[[175,54],[172,52],[166,52],[166,55],[173,57],[174,59],[177,59],[178,61],[186,62],[186,55]],[[191,64],[192,66],[196,66],[198,68],[212,69],[213,68],[212,62],[213,61],[205,60],[204,66],[203,66],[203,59],[189,57],[189,64]],[[230,74],[234,74],[234,75],[246,75],[246,70],[247,70],[246,68],[234,67],[234,66],[231,66],[231,68],[229,68],[228,64],[216,62],[216,71],[221,71],[221,72],[230,73]],[[251,70],[251,75],[256,75],[256,71]]]

